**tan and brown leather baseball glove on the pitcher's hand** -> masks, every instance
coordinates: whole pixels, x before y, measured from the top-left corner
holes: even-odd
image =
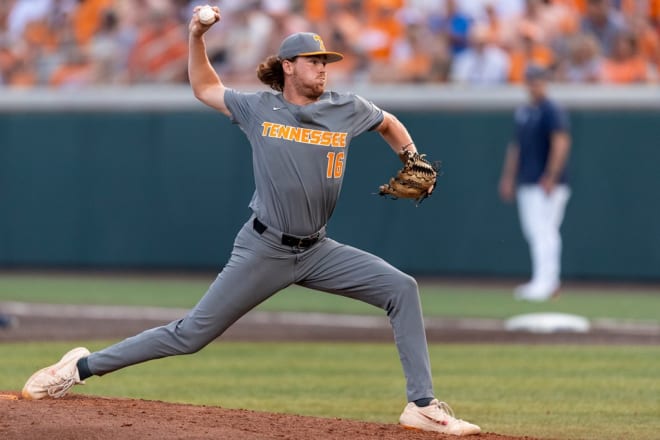
[[[403,168],[389,183],[379,187],[378,194],[395,199],[413,199],[420,204],[430,195],[438,176],[439,162],[431,163],[425,154],[404,150],[399,154]]]

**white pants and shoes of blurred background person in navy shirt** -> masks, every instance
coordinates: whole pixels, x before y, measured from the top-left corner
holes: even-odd
[[[517,297],[543,301],[559,288],[562,247],[559,228],[570,196],[567,185],[557,185],[550,194],[541,185],[518,187],[518,214],[529,244],[532,279],[516,289]]]

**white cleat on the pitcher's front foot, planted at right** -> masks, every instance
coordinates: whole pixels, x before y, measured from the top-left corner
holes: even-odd
[[[450,435],[474,435],[481,428],[472,423],[454,417],[454,412],[445,402],[433,399],[429,406],[419,407],[408,403],[401,413],[399,423],[406,429],[434,431]]]

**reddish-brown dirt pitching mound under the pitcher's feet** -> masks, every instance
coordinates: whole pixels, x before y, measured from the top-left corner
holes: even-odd
[[[30,401],[2,393],[0,438],[14,440],[142,439],[446,439],[455,436],[408,431],[395,424],[304,417],[70,394]],[[479,440],[533,440],[484,433]]]

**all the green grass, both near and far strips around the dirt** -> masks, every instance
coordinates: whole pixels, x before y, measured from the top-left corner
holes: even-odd
[[[190,307],[212,277],[0,274],[0,302]],[[505,318],[560,311],[660,322],[649,288],[565,289],[559,301],[516,302],[507,287],[423,284],[425,314]],[[262,310],[381,313],[355,301],[287,289]],[[112,341],[84,341],[91,350]],[[0,344],[0,390],[18,390],[71,343]],[[440,398],[488,432],[555,440],[660,438],[660,347],[431,345]],[[218,343],[191,356],[92,378],[76,392],[395,423],[405,404],[393,344]]]

